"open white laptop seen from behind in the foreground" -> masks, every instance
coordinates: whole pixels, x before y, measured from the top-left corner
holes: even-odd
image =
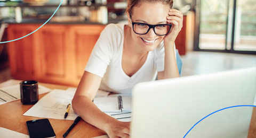
[[[245,138],[253,107],[223,108],[253,105],[255,92],[256,68],[139,83],[130,136]]]

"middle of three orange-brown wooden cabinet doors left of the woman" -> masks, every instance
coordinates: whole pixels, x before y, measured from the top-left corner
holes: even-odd
[[[68,28],[66,25],[49,24],[39,30],[39,53],[43,82],[68,84]]]

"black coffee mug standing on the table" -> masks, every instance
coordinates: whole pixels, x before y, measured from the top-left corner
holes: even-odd
[[[38,82],[29,80],[20,82],[20,100],[23,105],[33,105],[38,101]]]

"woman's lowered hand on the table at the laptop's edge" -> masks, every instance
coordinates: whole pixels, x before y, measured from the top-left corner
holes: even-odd
[[[106,133],[109,138],[129,138],[130,137],[130,122],[120,122],[116,120],[113,123],[107,124]]]

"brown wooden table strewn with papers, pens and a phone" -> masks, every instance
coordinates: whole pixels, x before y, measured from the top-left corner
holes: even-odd
[[[9,85],[19,84],[18,80],[9,80],[0,83],[1,87],[6,87]],[[63,89],[66,90],[68,87],[63,85],[54,85],[47,83],[39,83],[50,89]],[[46,93],[45,93],[46,94]],[[39,99],[41,99],[45,94],[41,94]],[[0,127],[7,128],[9,130],[17,131],[23,134],[27,134],[26,121],[33,119],[41,119],[39,117],[22,116],[29,108],[33,105],[22,105],[20,100],[5,103],[0,105]],[[61,120],[61,119],[49,119],[53,130],[57,137],[62,137],[62,135],[67,131],[68,127],[73,123],[73,120]],[[81,120],[74,128],[70,131],[67,137],[95,137],[99,135],[104,135],[105,132],[99,130],[98,128],[84,122]],[[248,138],[256,137],[256,108],[253,108],[252,120],[249,130]]]

